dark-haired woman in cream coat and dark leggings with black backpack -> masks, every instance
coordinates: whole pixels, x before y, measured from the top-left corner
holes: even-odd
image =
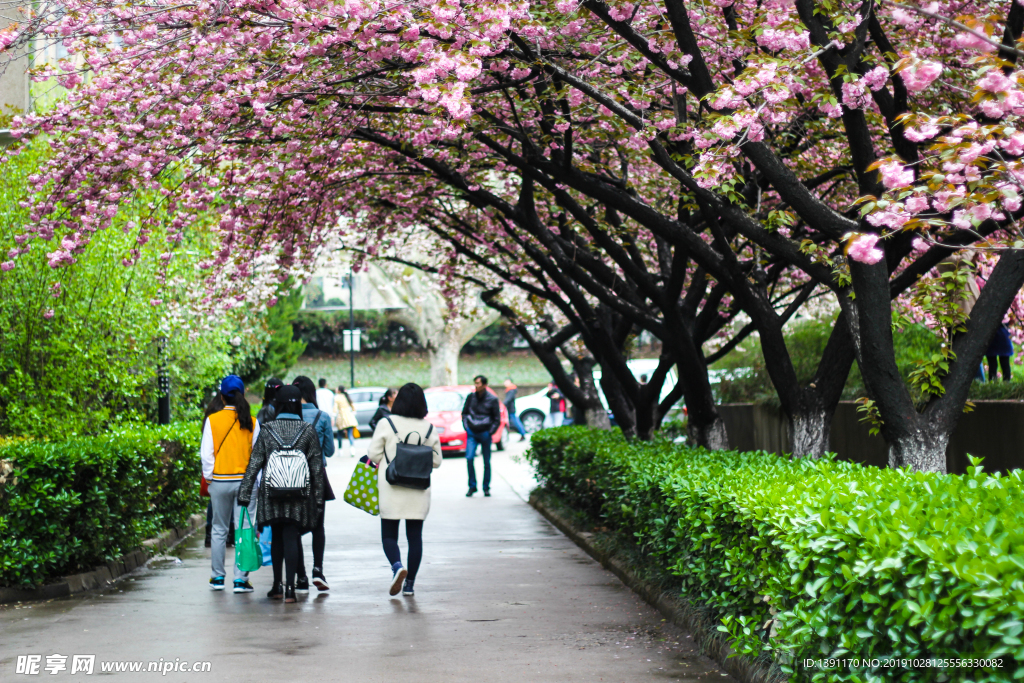
[[[427,415],[427,398],[419,384],[409,383],[398,390],[391,407],[391,416],[381,420],[374,430],[373,440],[367,455],[377,465],[377,483],[380,488],[381,541],[384,554],[391,563],[391,595],[413,595],[416,572],[423,559],[423,520],[430,512],[430,488],[420,490],[404,486],[392,486],[387,482],[385,471],[388,461],[394,460],[399,441],[412,434],[411,443],[416,443],[419,435],[423,445],[434,452],[434,468],[441,466],[441,443],[437,430],[424,420]],[[386,456],[386,458],[385,458]],[[398,550],[398,521],[406,520],[406,538],[409,540],[409,568],[401,564]],[[402,584],[404,582],[404,585]]]

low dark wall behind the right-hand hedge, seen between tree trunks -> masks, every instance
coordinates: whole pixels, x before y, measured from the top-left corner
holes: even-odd
[[[737,451],[788,453],[788,421],[778,409],[755,403],[719,407],[729,430],[730,445]],[[886,467],[889,444],[871,436],[860,421],[857,403],[843,401],[833,418],[829,450],[841,460]],[[964,474],[968,454],[984,458],[988,472],[1024,467],[1024,401],[978,400],[971,413],[961,416],[946,450],[949,472]]]

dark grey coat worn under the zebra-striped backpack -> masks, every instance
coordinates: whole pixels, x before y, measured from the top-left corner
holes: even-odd
[[[304,501],[280,501],[270,499],[266,492],[266,477],[263,477],[257,494],[256,524],[263,526],[274,522],[291,522],[301,530],[310,530],[316,525],[319,511],[324,509],[324,457],[321,455],[316,430],[299,416],[281,415],[278,419],[262,425],[256,444],[253,445],[249,467],[239,486],[239,503],[249,505],[256,475],[266,464],[266,459],[278,446],[273,435],[278,435],[285,445],[294,441],[295,447],[306,454],[309,465],[309,497]]]

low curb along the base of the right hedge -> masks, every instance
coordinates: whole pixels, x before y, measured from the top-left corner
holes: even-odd
[[[741,683],[769,683],[771,681],[766,667],[751,661],[740,654],[734,654],[732,648],[718,637],[719,634],[716,631],[712,631],[701,624],[697,611],[688,601],[645,582],[627,565],[623,558],[596,547],[591,542],[592,533],[578,529],[570,520],[546,504],[545,498],[549,496],[551,494],[535,490],[529,495],[529,504],[554,524],[559,531],[600,562],[605,569],[618,577],[634,593],[662,612],[667,620],[691,633],[697,646],[708,656],[715,659],[722,669]]]

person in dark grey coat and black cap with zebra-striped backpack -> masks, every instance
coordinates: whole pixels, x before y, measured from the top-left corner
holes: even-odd
[[[268,422],[253,446],[249,467],[239,488],[239,503],[249,505],[257,475],[262,480],[256,499],[256,524],[270,526],[270,558],[273,564],[273,586],[266,594],[271,600],[285,598],[295,602],[295,574],[299,565],[301,535],[312,530],[324,516],[324,457],[316,430],[302,420],[302,392],[296,386],[278,389],[274,398],[276,419]],[[300,495],[285,496],[265,470],[273,471],[278,452],[299,451],[305,457],[308,487]],[[280,458],[284,460],[284,458]],[[301,471],[299,473],[301,475]],[[282,575],[284,564],[284,575]],[[284,584],[282,581],[284,580]]]

